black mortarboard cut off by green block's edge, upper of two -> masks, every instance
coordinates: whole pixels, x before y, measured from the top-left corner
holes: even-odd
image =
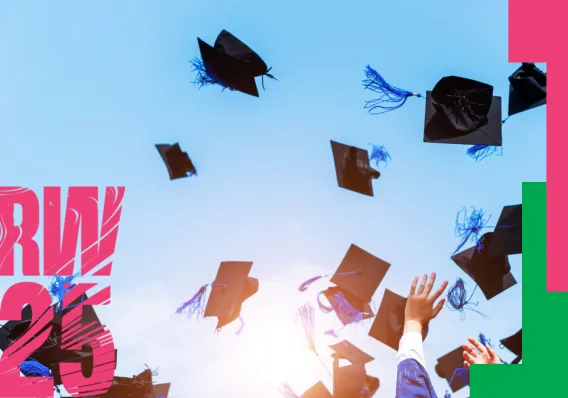
[[[505,206],[493,231],[489,254],[507,256],[522,252],[523,207],[522,205]]]

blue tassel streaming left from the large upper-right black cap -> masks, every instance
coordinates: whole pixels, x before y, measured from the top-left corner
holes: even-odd
[[[422,98],[422,95],[418,93],[412,93],[410,91],[391,86],[369,65],[365,68],[365,76],[366,79],[363,80],[363,86],[365,89],[381,94],[379,98],[365,102],[365,109],[368,109],[369,113],[381,114],[398,109],[405,104],[408,97]],[[380,109],[381,111],[375,112],[376,109]]]

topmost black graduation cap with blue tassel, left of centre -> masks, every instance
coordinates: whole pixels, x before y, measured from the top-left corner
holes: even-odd
[[[194,83],[200,87],[219,85],[231,91],[258,97],[255,77],[266,76],[275,79],[262,58],[226,30],[217,36],[213,47],[200,38],[197,41],[201,60],[194,59],[191,63],[197,72]]]

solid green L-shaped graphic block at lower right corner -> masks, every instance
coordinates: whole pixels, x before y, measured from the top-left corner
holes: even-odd
[[[523,183],[522,256],[523,364],[472,366],[471,398],[568,396],[568,293],[546,292],[545,183]]]

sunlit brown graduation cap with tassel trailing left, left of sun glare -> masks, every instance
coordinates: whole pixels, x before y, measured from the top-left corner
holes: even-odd
[[[233,322],[240,317],[243,302],[258,292],[258,279],[248,276],[252,264],[244,261],[222,262],[215,281],[203,285],[176,313],[186,312],[189,317],[217,317],[217,330]],[[211,287],[211,293],[205,305],[208,287]]]

